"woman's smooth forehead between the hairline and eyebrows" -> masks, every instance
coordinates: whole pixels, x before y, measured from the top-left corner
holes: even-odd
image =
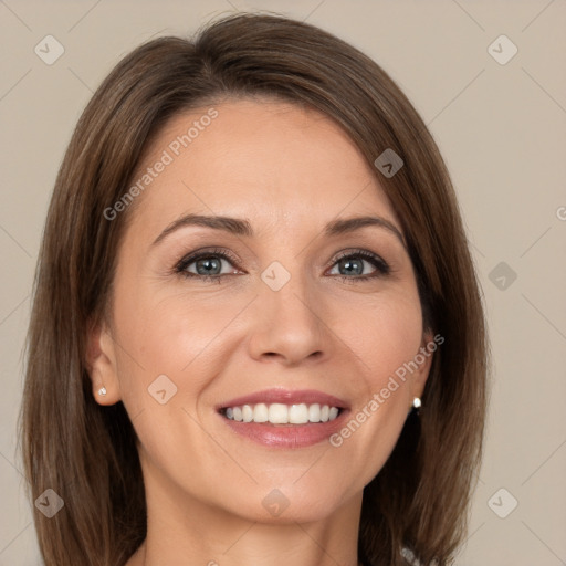
[[[342,212],[395,213],[347,134],[317,111],[231,101],[172,117],[135,175],[135,222],[163,229],[184,212],[253,218],[297,230]],[[319,218],[319,222],[318,222]]]

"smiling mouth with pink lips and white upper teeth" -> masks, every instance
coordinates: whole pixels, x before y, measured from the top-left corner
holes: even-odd
[[[337,397],[314,390],[271,389],[217,407],[233,432],[272,448],[303,448],[328,439],[349,408]]]

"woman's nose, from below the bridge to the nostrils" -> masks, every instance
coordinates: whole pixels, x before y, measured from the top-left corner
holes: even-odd
[[[298,276],[292,276],[279,291],[261,282],[249,334],[250,355],[285,366],[323,359],[331,337],[323,302],[316,295],[316,290]]]

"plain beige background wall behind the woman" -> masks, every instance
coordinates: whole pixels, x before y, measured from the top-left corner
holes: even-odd
[[[565,0],[0,0],[0,565],[40,564],[14,426],[33,270],[72,129],[134,46],[248,9],[307,20],[360,48],[429,124],[469,229],[494,361],[485,462],[457,563],[566,564]],[[65,50],[53,65],[34,53],[48,34]],[[501,34],[518,49],[504,65],[488,51]],[[500,43],[500,57],[511,53]],[[516,273],[511,284],[493,272],[500,262]],[[501,518],[493,510],[509,513],[512,497],[518,505]]]

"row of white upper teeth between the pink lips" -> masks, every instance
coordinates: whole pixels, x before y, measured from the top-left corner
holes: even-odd
[[[244,405],[228,407],[224,415],[230,420],[240,422],[271,422],[272,424],[305,424],[306,422],[327,422],[338,416],[337,407],[328,405]]]

